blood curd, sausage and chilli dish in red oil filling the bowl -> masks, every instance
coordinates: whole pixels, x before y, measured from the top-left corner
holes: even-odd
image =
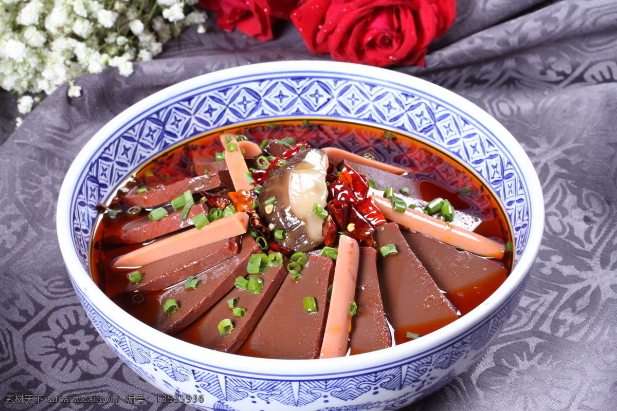
[[[106,295],[161,332],[244,356],[408,343],[473,310],[511,268],[507,219],[473,173],[362,124],[200,137],[98,206]]]

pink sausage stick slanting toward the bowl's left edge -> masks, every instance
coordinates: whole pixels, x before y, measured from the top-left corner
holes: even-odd
[[[193,228],[183,231],[126,253],[114,262],[114,269],[142,267],[162,258],[244,234],[248,224],[249,216],[246,213],[231,214],[210,222],[201,230]]]

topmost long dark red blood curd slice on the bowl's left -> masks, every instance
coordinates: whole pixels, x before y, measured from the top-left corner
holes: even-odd
[[[182,181],[175,182],[158,189],[148,190],[145,193],[138,194],[137,190],[140,187],[134,187],[130,192],[126,193],[126,202],[133,206],[141,208],[155,207],[168,201],[172,201],[176,197],[180,197],[186,190],[191,190],[192,193],[199,191],[212,190],[221,186],[221,180],[218,172],[206,174],[205,176],[189,177]]]

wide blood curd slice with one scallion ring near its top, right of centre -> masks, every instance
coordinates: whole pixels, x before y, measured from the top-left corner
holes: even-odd
[[[437,288],[394,222],[375,230],[377,250],[394,244],[397,253],[379,253],[379,287],[384,309],[397,344],[409,341],[407,333],[426,335],[458,318],[456,309]]]

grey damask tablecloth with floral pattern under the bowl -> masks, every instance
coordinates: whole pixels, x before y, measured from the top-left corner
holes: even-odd
[[[82,97],[67,97],[65,84],[14,132],[14,97],[0,93],[0,409],[191,409],[156,402],[162,393],[99,338],[65,271],[55,214],[79,150],[149,94],[237,65],[329,59],[310,54],[288,23],[267,43],[208,28],[191,28],[129,78],[107,70],[77,79]],[[394,70],[504,124],[531,157],[547,206],[536,269],[499,338],[405,411],[617,410],[617,2],[460,0],[426,68]],[[46,402],[89,395],[123,401]]]

